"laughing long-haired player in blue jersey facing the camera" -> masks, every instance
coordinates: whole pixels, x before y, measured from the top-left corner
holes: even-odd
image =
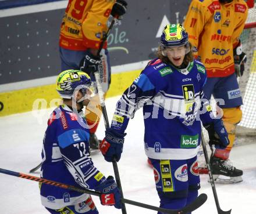
[[[229,140],[222,119],[214,117],[204,99],[205,67],[193,59],[181,24],[164,28],[157,55],[116,104],[99,148],[106,161],[119,161],[129,119],[143,107],[145,154],[153,165],[160,207],[180,209],[197,197],[200,188],[201,122],[211,130],[215,147],[226,148]]]

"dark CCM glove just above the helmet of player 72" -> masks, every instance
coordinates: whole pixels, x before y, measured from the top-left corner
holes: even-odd
[[[85,56],[80,61],[80,70],[91,76],[94,72],[99,71],[99,64],[101,64],[101,57],[94,56],[90,50],[86,50]]]

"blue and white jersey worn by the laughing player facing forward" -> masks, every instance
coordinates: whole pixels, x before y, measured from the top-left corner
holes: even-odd
[[[177,69],[159,59],[152,60],[116,104],[111,128],[125,132],[129,118],[143,107],[148,157],[195,157],[201,140],[200,120],[208,124],[214,117],[208,100],[202,100],[206,79],[205,67],[199,61]]]

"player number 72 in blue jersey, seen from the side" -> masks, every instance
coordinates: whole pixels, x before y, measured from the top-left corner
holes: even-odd
[[[93,93],[90,77],[81,71],[66,70],[56,79],[56,90],[63,104],[55,108],[48,120],[42,147],[41,177],[76,187],[101,192],[102,205],[122,208],[119,189],[112,176],[106,178],[89,154],[89,127],[83,107]],[[40,185],[42,205],[52,214],[97,214],[89,194],[60,187]]]

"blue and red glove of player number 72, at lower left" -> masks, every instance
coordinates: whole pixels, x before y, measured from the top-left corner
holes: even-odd
[[[99,197],[102,205],[114,205],[117,209],[122,208],[121,194],[112,176],[108,176],[105,182],[95,187],[95,190],[102,193]]]

